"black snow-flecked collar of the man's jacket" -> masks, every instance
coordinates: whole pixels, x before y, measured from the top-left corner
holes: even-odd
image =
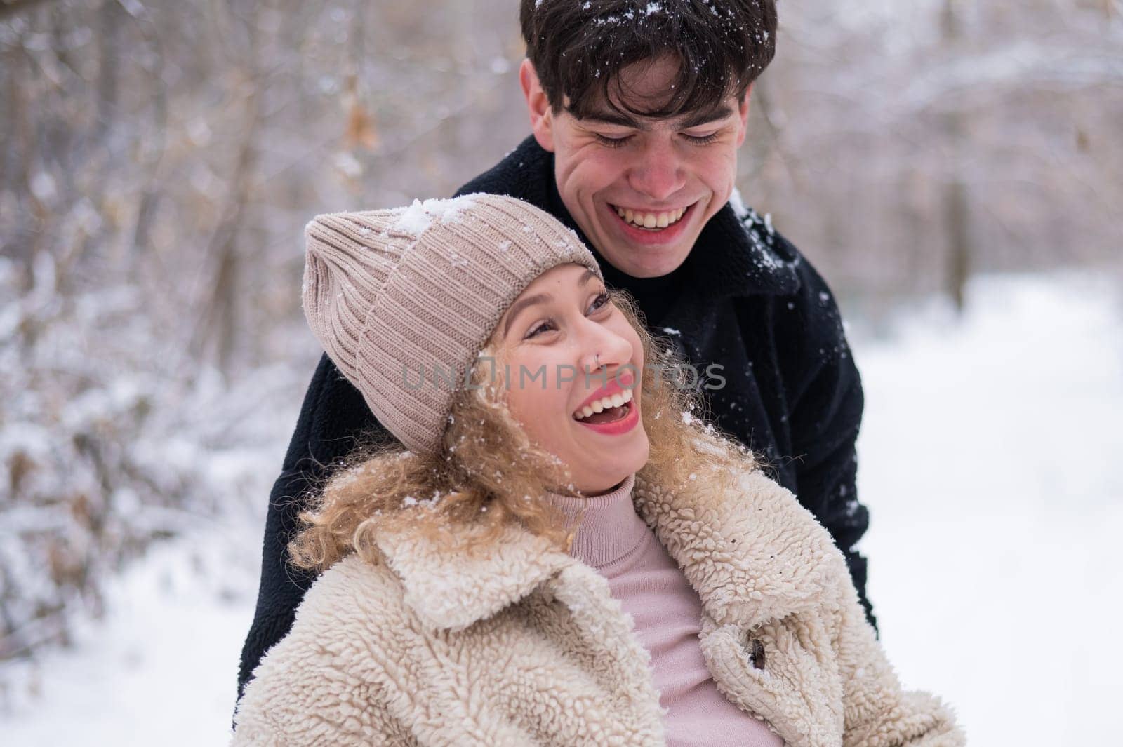
[[[554,176],[554,154],[538,145],[533,136],[464,185],[457,195],[471,192],[506,194],[551,213],[576,231],[604,265],[562,202]],[[801,261],[798,252],[772,228],[770,221],[747,208],[734,190],[729,203],[702,229],[686,265],[692,285],[707,297],[791,295],[800,289],[796,268]],[[623,287],[628,289],[627,284]]]

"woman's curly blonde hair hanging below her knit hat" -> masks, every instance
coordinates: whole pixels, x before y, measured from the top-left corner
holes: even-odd
[[[732,476],[756,464],[752,454],[706,422],[696,391],[660,375],[659,369],[675,370],[681,361],[647,332],[630,296],[619,290],[609,295],[643,345],[641,407],[650,454],[637,478],[670,490],[695,479],[731,489]],[[492,352],[489,345],[481,356]],[[377,564],[380,529],[400,520],[417,522],[454,542],[467,533],[457,535],[450,527],[484,524],[484,532],[464,541],[465,551],[486,547],[514,522],[568,551],[576,526],[567,526],[560,511],[535,497],[566,486],[569,474],[511,415],[500,395],[502,379],[484,382],[486,369],[476,366],[473,382],[478,386],[457,393],[439,453],[417,454],[396,442],[359,446],[321,490],[312,491],[299,515],[301,528],[289,543],[294,566],[325,571],[351,553]]]

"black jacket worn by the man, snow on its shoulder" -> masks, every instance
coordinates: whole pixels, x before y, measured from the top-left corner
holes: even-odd
[[[465,184],[553,213],[591,246],[565,209],[554,155],[532,137]],[[709,416],[772,464],[846,554],[866,606],[866,561],[852,551],[868,516],[857,500],[855,440],[861,421],[858,370],[823,278],[752,210],[731,201],[703,228],[686,261],[661,278],[627,276],[597,256],[612,287],[629,290],[649,328],[699,370],[724,379],[706,393]],[[595,253],[595,251],[594,251]],[[705,379],[719,386],[716,376]],[[327,354],[304,395],[281,476],[270,496],[257,609],[241,652],[238,697],[262,655],[292,626],[314,577],[285,562],[301,499],[362,435],[391,437]]]

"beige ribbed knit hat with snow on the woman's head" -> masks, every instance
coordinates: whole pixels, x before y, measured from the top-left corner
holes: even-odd
[[[576,233],[500,195],[318,215],[304,237],[309,326],[371,412],[418,453],[440,450],[453,395],[523,288],[566,262],[601,277]]]

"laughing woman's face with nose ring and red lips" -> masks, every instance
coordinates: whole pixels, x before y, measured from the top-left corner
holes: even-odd
[[[539,275],[491,345],[511,413],[569,468],[577,490],[605,492],[647,463],[642,343],[591,270],[567,264]]]

